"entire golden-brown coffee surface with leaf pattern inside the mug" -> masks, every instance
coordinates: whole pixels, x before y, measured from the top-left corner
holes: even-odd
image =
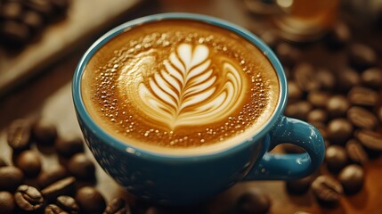
[[[280,94],[271,62],[255,45],[186,20],[144,23],[111,38],[87,63],[81,90],[101,128],[148,148],[250,136],[272,116]]]

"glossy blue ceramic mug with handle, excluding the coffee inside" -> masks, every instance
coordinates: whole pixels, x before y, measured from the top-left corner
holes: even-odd
[[[272,117],[261,130],[223,151],[202,154],[164,154],[121,142],[100,128],[85,109],[81,78],[93,54],[111,38],[146,22],[185,19],[207,22],[228,29],[256,45],[272,62],[280,84],[280,97]],[[283,115],[288,87],[279,60],[271,49],[246,29],[230,22],[199,14],[163,13],[128,21],[98,39],[77,65],[72,93],[77,119],[85,141],[110,177],[136,197],[162,204],[185,205],[203,202],[242,180],[284,180],[305,177],[318,169],[324,157],[324,143],[316,128]],[[301,154],[273,154],[282,143],[305,150]]]

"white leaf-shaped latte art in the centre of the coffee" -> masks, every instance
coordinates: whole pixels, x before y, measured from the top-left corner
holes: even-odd
[[[242,72],[228,60],[213,62],[207,45],[180,44],[163,62],[158,62],[156,52],[138,55],[139,60],[124,67],[118,78],[126,100],[136,103],[152,124],[170,131],[206,125],[227,119],[242,102],[247,87]],[[152,70],[152,64],[163,66]],[[126,82],[129,79],[135,83]]]

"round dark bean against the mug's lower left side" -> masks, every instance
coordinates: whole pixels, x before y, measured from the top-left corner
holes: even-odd
[[[85,153],[73,155],[68,162],[68,170],[71,175],[80,180],[93,180],[95,178],[94,163]]]

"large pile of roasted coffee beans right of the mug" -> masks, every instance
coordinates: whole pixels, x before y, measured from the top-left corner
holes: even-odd
[[[290,194],[312,192],[322,206],[337,206],[342,197],[360,193],[367,172],[363,168],[382,151],[382,68],[370,45],[354,41],[349,27],[338,23],[320,43],[344,62],[326,68],[330,59],[314,64],[301,60],[309,45],[276,43],[289,78],[286,116],[318,128],[327,145],[325,161],[315,175],[286,182]],[[336,62],[335,62],[336,63]],[[342,64],[339,64],[342,63]],[[285,152],[304,152],[286,144]]]

